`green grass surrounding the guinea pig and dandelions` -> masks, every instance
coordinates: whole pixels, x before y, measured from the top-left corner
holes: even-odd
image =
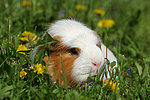
[[[119,99],[148,100],[150,98],[150,1],[149,0],[31,0],[31,5],[22,6],[24,0],[0,0],[0,99]],[[86,6],[79,11],[77,4]],[[38,10],[40,8],[40,10]],[[106,11],[104,16],[93,13],[96,8]],[[64,16],[58,14],[65,9]],[[70,15],[72,12],[74,15]],[[26,55],[16,52],[23,31],[42,36],[48,25],[58,19],[72,18],[85,23],[96,31],[102,41],[117,56],[120,65],[119,92],[110,91],[97,78],[91,88],[80,84],[68,89],[54,84],[49,74],[28,71],[19,78],[19,72],[37,62],[29,58],[35,47],[29,43]],[[115,26],[102,29],[97,26],[101,19],[113,19]],[[106,37],[104,39],[103,37]],[[49,40],[47,41],[49,42]],[[47,45],[47,42],[40,42]],[[48,49],[47,49],[48,50]],[[40,58],[43,53],[39,53]],[[38,59],[37,59],[38,60]],[[38,63],[45,65],[43,59]],[[130,74],[127,75],[127,70]]]

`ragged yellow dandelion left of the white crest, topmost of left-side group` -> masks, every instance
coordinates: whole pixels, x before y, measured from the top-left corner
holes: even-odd
[[[20,37],[19,40],[23,42],[33,41],[33,43],[36,44],[39,39],[36,34],[28,31],[24,31],[22,35],[23,37]]]

